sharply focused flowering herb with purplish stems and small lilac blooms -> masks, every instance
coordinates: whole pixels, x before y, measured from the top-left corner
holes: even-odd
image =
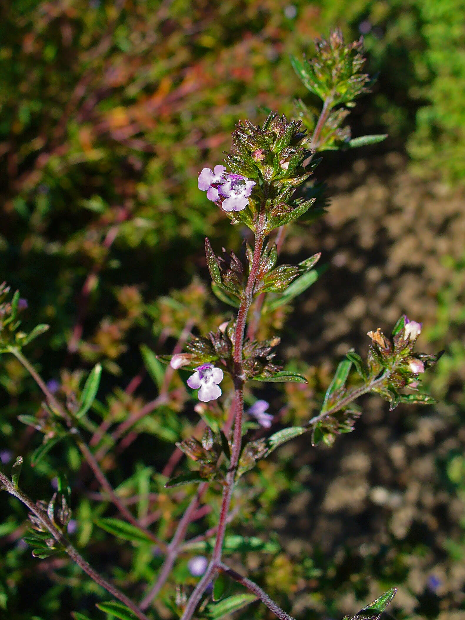
[[[188,467],[178,466],[179,458],[175,458],[177,472],[165,479],[166,489],[183,485],[192,489],[190,503],[179,523],[172,528],[174,534],[169,541],[160,536],[159,531],[154,533],[149,523],[141,521],[130,510],[128,503],[113,489],[101,465],[109,449],[105,448],[106,439],[120,438],[143,414],[139,412],[130,420],[123,420],[111,436],[108,436],[108,425],[98,427],[95,424],[91,412],[97,407],[100,365],[89,374],[79,398],[74,392],[69,392],[63,401],[56,396],[55,386],[43,381],[23,352],[31,340],[47,330],[47,325],[37,325],[29,334],[23,332],[19,317],[25,300],[18,291],[11,296],[6,284],[0,288],[0,353],[2,357],[14,356],[35,379],[45,397],[40,414],[19,416],[21,422],[44,436],[31,462],[37,464],[64,438],[73,441],[107,502],[118,510],[118,518],[102,517],[95,523],[119,539],[144,542],[152,549],[153,556],[162,558],[152,582],[148,582],[147,572],[136,572],[138,580],[133,583],[130,598],[97,572],[71,542],[76,521],[72,520],[71,489],[64,472],[57,472],[56,492],[45,500],[32,500],[21,489],[22,457],[16,459],[11,474],[0,473],[2,490],[29,510],[30,523],[24,541],[32,547],[33,556],[47,559],[55,554],[68,554],[99,586],[99,591],[106,590],[113,597],[112,601],[97,604],[110,617],[123,620],[159,617],[156,597],[180,554],[188,548],[185,544],[188,526],[198,518],[200,500],[209,493],[209,497],[219,499],[216,524],[188,543],[195,549],[196,542],[211,541],[210,557],[191,557],[188,570],[191,577],[197,578],[197,585],[180,583],[173,593],[169,613],[182,620],[216,620],[259,599],[278,618],[291,620],[259,585],[242,574],[245,569],[238,572],[224,560],[226,547],[230,551],[231,547],[240,551],[245,540],[239,536],[241,540],[234,547],[234,541],[226,537],[228,523],[234,515],[234,502],[238,497],[247,497],[244,474],[278,446],[304,433],[309,433],[313,446],[321,442],[332,445],[337,435],[353,430],[361,415],[355,401],[363,394],[379,394],[389,402],[391,410],[399,403],[434,402],[420,391],[420,375],[437,361],[438,355],[415,352],[422,325],[406,316],[397,321],[391,335],[383,334],[379,328],[368,332],[370,347],[366,360],[353,350],[347,353],[327,388],[319,411],[309,415],[303,425],[273,432],[270,429],[276,421],[276,412],[270,409],[267,401],[254,396],[254,387],[261,383],[307,383],[303,375],[286,370],[277,361],[278,335],[272,334],[263,340],[257,334],[271,312],[296,298],[317,277],[320,253],[298,265],[280,264],[278,260],[286,226],[299,218],[312,221],[325,212],[321,188],[311,179],[320,161],[316,154],[328,149],[373,144],[385,137],[352,139],[350,128],[345,125],[356,97],[370,90],[370,78],[362,73],[365,59],[361,55],[361,45],[361,41],[346,45],[336,30],[329,40],[316,43],[316,56],[312,60],[292,58],[299,78],[322,105],[317,109],[309,108],[299,100],[296,102],[299,120],[288,120],[270,112],[262,126],[239,122],[232,133],[232,146],[224,165],[204,167],[198,175],[198,188],[206,192],[205,198],[211,201],[211,208],[220,210],[231,224],[242,226],[248,232],[237,252],[228,253],[223,249],[218,253],[205,239],[212,290],[228,306],[228,319],[216,322],[218,326],[206,334],[188,337],[192,325],[188,327],[184,352],[179,346],[173,355],[156,358],[148,348],[142,348],[144,360],[161,385],[157,404],[166,402],[170,380],[176,373],[198,400],[194,410],[200,416],[201,433],[177,442],[177,453],[187,456]],[[162,371],[161,361],[166,363]],[[359,381],[358,384],[351,381],[347,386],[352,368],[358,373]],[[151,410],[146,409],[147,412]],[[90,441],[86,439],[89,433]],[[104,448],[100,445],[96,449],[100,440]],[[162,501],[162,495],[159,497]],[[142,562],[142,556],[137,557]],[[115,574],[120,572],[115,571]],[[230,594],[232,582],[242,586],[239,593]],[[378,620],[395,592],[395,588],[386,591],[353,619]],[[86,609],[73,612],[74,618],[89,620],[84,611],[87,613]]]

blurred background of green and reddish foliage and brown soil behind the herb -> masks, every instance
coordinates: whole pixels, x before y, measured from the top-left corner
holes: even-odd
[[[368,329],[405,311],[425,322],[423,348],[446,348],[431,378],[442,402],[406,415],[368,399],[355,435],[332,451],[286,446],[250,473],[255,492],[233,526],[279,541],[280,551],[243,560],[299,618],[336,618],[398,585],[397,616],[463,620],[463,0],[2,3],[0,281],[27,299],[26,326],[50,324],[30,356],[61,396],[79,392],[84,371],[100,361],[95,422],[113,428],[137,415],[162,389],[144,370],[141,343],[166,353],[186,329],[228,317],[195,274],[208,280],[206,234],[236,247],[242,231],[198,192],[199,170],[221,161],[239,118],[263,120],[263,108],[296,115],[295,97],[312,104],[289,55],[311,55],[314,37],[335,26],[347,40],[364,35],[368,70],[379,74],[352,113],[353,136],[389,138],[355,162],[353,151],[324,155],[317,178],[329,187],[329,215],[295,226],[284,251],[301,260],[322,250],[329,270],[298,311],[280,308],[269,320],[280,330],[290,319],[281,355],[298,356],[311,380],[304,390],[263,396],[283,422],[306,420],[337,356],[366,347]],[[40,445],[17,422],[40,409],[40,395],[6,356],[0,383],[7,463]],[[94,441],[115,487],[131,476],[120,492],[137,498],[139,518],[152,517],[161,536],[172,534],[187,495],[161,492],[160,474],[172,443],[198,425],[185,384],[173,378],[171,387],[169,402],[141,418],[116,452]],[[135,584],[151,580],[159,557],[147,545],[128,555],[95,528],[95,518],[112,512],[97,502],[76,448],[63,443],[33,470],[28,464],[25,489],[43,498],[56,471],[69,467],[73,487],[87,494],[73,507],[78,546],[139,595]],[[2,613],[103,617],[93,607],[101,593],[78,569],[32,559],[18,542],[24,513],[2,500]],[[212,514],[190,534],[212,525]],[[182,560],[157,606],[163,618],[174,583],[186,579],[195,582]],[[255,605],[246,614],[267,612]]]

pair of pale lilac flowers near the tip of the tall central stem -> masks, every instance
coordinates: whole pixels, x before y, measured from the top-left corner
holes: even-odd
[[[212,202],[221,201],[223,211],[242,211],[249,204],[252,187],[257,185],[242,174],[230,174],[218,164],[213,170],[203,168],[198,175],[198,188]]]

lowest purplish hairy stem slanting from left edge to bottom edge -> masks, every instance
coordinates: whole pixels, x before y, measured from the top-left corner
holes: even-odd
[[[50,532],[51,536],[55,538],[55,540],[63,546],[63,551],[65,551],[71,559],[78,564],[78,566],[84,570],[89,577],[95,582],[98,583],[102,588],[105,588],[107,592],[109,592],[112,596],[121,601],[126,605],[131,611],[139,618],[139,620],[148,620],[147,616],[138,608],[138,606],[133,603],[125,594],[120,592],[118,588],[116,588],[112,583],[108,582],[102,575],[97,573],[92,566],[84,560],[84,558],[79,554],[79,552],[73,547],[71,542],[68,541],[66,536],[58,529],[53,523],[48,515],[41,510],[25,493],[21,490],[17,489],[14,484],[12,484],[11,480],[9,480],[4,474],[0,472],[0,482],[2,487],[10,494],[14,495],[20,502],[24,503],[24,505],[29,508],[29,510],[33,513],[33,515],[37,516],[40,523],[42,523],[43,527]]]

